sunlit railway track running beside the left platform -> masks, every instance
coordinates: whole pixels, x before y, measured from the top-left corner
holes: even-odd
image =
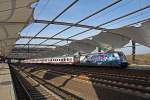
[[[30,73],[23,72],[14,67],[13,70],[17,73],[18,78],[21,79],[20,82],[25,83],[24,87],[31,100],[82,100],[82,98],[60,89]]]

